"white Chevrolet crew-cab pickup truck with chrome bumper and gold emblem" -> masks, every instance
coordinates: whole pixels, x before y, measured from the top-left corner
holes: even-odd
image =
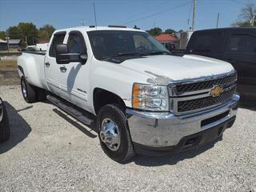
[[[47,98],[87,125],[97,122],[102,149],[117,162],[214,141],[238,110],[230,63],[173,56],[122,26],[56,30],[46,52],[18,57],[18,71],[26,102]]]

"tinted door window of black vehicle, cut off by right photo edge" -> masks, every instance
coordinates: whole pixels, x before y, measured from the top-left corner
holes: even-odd
[[[256,54],[256,36],[252,34],[230,34],[226,53]]]

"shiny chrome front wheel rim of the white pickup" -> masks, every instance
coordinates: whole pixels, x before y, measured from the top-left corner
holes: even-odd
[[[113,151],[119,149],[120,146],[120,131],[117,124],[110,118],[104,118],[100,130],[100,138],[106,146]]]

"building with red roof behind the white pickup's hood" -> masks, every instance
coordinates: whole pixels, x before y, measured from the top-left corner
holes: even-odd
[[[176,38],[173,34],[159,34],[154,37],[161,42],[162,45],[166,46],[168,50],[175,50],[179,48],[179,39]]]

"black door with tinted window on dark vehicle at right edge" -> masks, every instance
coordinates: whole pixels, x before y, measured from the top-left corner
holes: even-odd
[[[232,30],[227,36],[223,60],[238,71],[238,83],[256,85],[256,33]]]

